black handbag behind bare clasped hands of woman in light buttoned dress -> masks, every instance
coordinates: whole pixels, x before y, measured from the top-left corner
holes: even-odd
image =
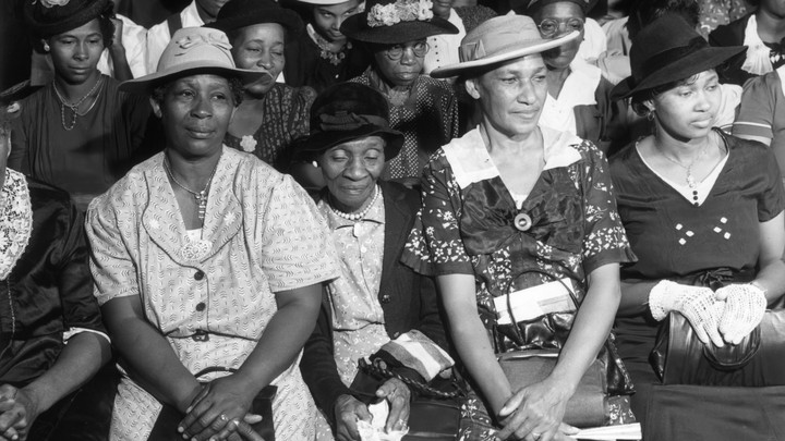
[[[227,369],[221,367],[209,367],[201,370],[194,377],[200,378],[210,372],[235,372],[237,369]],[[261,415],[262,420],[252,425],[254,431],[262,436],[265,441],[275,441],[275,428],[273,426],[273,399],[278,392],[277,385],[267,385],[254,396],[251,404],[251,413]],[[185,418],[185,414],[177,409],[177,407],[164,403],[160,414],[156,419],[155,426],[150,431],[147,441],[182,441],[182,433],[177,428],[180,421]]]

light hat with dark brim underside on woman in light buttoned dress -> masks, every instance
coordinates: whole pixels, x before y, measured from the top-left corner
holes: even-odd
[[[226,34],[207,27],[183,27],[164,49],[155,73],[120,84],[121,90],[148,93],[176,78],[195,74],[237,77],[243,83],[259,79],[265,72],[238,69]]]

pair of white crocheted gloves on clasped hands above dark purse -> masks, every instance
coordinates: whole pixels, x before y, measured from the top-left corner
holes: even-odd
[[[690,322],[703,344],[739,344],[760,324],[766,309],[765,293],[754,284],[732,284],[716,292],[705,286],[669,280],[649,293],[649,308],[656,320],[678,311]]]

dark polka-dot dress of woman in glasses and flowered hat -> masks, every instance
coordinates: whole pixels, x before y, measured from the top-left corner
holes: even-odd
[[[458,102],[449,84],[420,75],[409,90],[389,88],[373,66],[352,82],[371,86],[390,102],[390,126],[403,133],[400,154],[387,161],[384,180],[420,177],[431,155],[458,136]],[[399,97],[401,105],[395,105]]]

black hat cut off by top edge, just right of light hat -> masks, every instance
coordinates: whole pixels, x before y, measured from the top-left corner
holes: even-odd
[[[218,11],[216,21],[205,27],[230,33],[264,23],[278,23],[294,35],[303,29],[302,20],[297,12],[282,8],[274,0],[230,0]]]

